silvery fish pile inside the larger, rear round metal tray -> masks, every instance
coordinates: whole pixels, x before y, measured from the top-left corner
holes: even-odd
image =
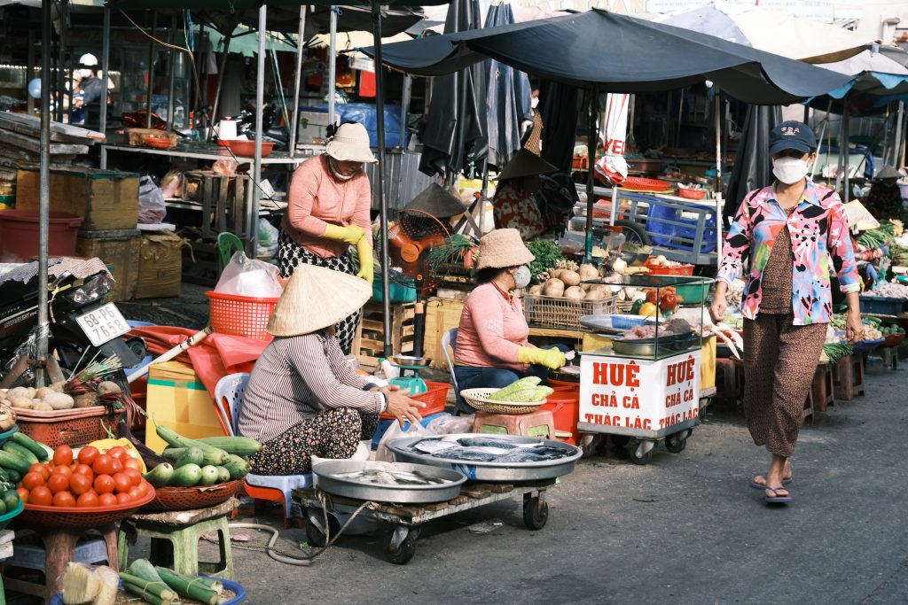
[[[462,460],[478,463],[535,463],[557,460],[569,452],[558,447],[549,447],[541,441],[516,444],[494,437],[427,437],[410,445],[410,451],[428,454],[433,458]]]

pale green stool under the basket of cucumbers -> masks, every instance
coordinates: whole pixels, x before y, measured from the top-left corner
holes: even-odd
[[[151,538],[149,560],[155,565],[169,567],[178,573],[216,575],[233,580],[233,554],[227,515],[240,505],[231,498],[208,509],[193,511],[151,512],[133,514],[120,523],[120,567],[129,563],[129,546],[141,536]],[[221,561],[199,561],[199,540],[206,533],[217,532]]]

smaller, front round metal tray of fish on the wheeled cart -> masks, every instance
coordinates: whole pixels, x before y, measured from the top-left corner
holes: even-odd
[[[467,481],[463,473],[438,466],[371,460],[325,460],[312,473],[323,492],[399,504],[447,502]]]

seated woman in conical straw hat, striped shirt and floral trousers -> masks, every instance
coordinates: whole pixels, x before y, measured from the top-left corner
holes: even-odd
[[[379,414],[419,422],[418,401],[353,372],[335,335],[338,321],[369,300],[371,286],[328,268],[301,265],[268,322],[262,351],[242,396],[240,434],[262,443],[252,473],[301,474],[311,457],[350,458],[371,439]]]

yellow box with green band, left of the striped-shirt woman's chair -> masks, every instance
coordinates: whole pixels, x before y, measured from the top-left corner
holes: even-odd
[[[190,439],[224,434],[214,411],[212,395],[208,394],[192,366],[179,361],[155,364],[149,370],[147,410],[155,423]],[[145,431],[145,445],[159,454],[167,446],[153,429]]]

